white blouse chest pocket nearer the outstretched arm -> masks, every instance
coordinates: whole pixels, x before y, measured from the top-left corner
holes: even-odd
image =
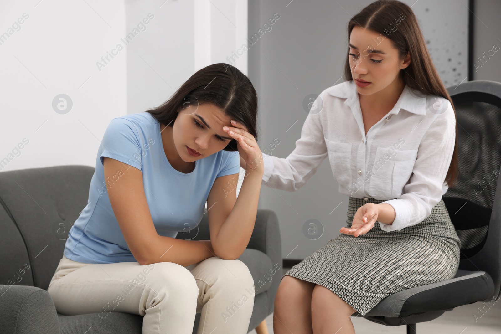
[[[339,185],[351,185],[351,149],[352,144],[339,143],[325,138],[332,173]]]

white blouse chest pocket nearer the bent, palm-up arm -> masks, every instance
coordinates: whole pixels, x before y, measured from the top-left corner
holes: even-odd
[[[399,198],[412,174],[417,157],[416,150],[393,150],[378,147],[369,183],[369,195],[382,199]]]

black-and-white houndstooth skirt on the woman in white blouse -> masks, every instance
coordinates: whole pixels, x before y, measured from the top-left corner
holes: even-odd
[[[346,226],[357,209],[384,200],[350,197]],[[460,241],[443,200],[420,223],[399,231],[374,227],[358,237],[341,233],[282,276],[325,286],[362,316],[381,299],[415,286],[453,278]]]

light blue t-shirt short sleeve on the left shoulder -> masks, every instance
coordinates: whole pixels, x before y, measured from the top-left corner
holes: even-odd
[[[114,118],[106,128],[101,141],[103,157],[113,158],[141,170],[141,145],[134,125],[125,118]]]

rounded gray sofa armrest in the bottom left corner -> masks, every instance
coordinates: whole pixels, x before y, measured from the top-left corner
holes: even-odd
[[[59,319],[49,292],[36,286],[0,284],[3,334],[59,334]]]

